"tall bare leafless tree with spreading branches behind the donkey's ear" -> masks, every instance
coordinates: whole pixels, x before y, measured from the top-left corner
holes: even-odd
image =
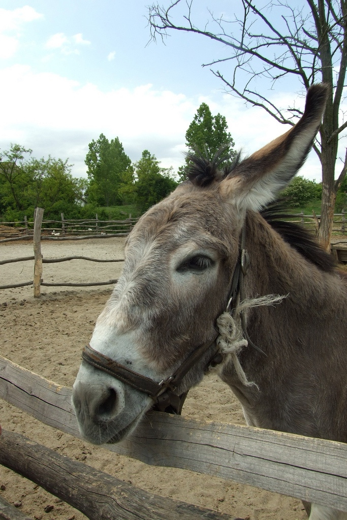
[[[276,106],[268,90],[262,94],[257,89],[259,76],[271,88],[275,83],[281,85],[283,80],[288,83],[292,77],[301,84],[302,95],[313,83],[323,81],[330,86],[323,124],[314,145],[323,180],[318,234],[323,247],[329,250],[336,193],[347,171],[346,150],[341,159],[342,170],[335,180],[339,138],[347,127],[341,109],[347,67],[347,0],[303,0],[300,7],[294,5],[297,3],[289,0],[275,0],[263,6],[255,0],[235,0],[240,15],[233,15],[230,20],[208,10],[208,22],[197,27],[194,0],[176,0],[168,7],[149,7],[149,24],[154,40],[168,35],[170,30],[178,30],[220,42],[224,46],[221,52],[225,53],[226,48],[228,54],[203,66],[212,68],[228,92],[261,107],[280,123],[295,124],[302,110]],[[174,18],[182,20],[182,24],[174,23]],[[226,65],[232,66],[227,75],[220,70],[225,70]]]

